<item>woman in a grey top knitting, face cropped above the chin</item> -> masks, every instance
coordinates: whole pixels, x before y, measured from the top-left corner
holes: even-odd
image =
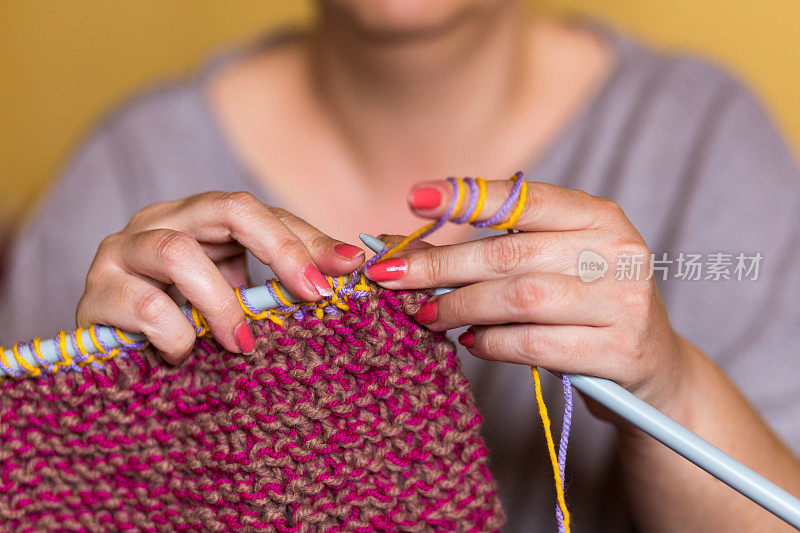
[[[247,353],[231,289],[247,281],[245,250],[253,279],[268,265],[316,300],[330,290],[322,273],[363,260],[350,244],[359,231],[408,233],[443,212],[451,190],[432,178],[521,168],[550,183],[530,184],[523,233],[450,226],[435,243],[484,238],[410,250],[369,273],[392,288],[470,284],[417,319],[473,326],[459,339],[477,358],[462,359],[509,530],[549,530],[553,489],[530,376],[493,361],[613,379],[800,494],[800,463],[773,433],[797,452],[798,170],[747,90],[701,61],[530,19],[511,1],[319,7],[310,33],[226,55],[95,132],[19,239],[6,340],[69,327],[80,300],[79,324],[142,331],[179,362],[194,334],[166,294],[174,285],[225,348]],[[486,213],[508,187],[490,184]],[[220,190],[249,192],[204,193]],[[577,276],[587,250],[610,263],[592,283]],[[651,251],[675,269],[666,279],[646,275]],[[684,252],[763,262],[741,281],[733,265],[732,279],[693,280]],[[634,256],[638,276],[615,262]],[[576,413],[567,485],[578,527],[782,526],[589,410],[612,424]]]

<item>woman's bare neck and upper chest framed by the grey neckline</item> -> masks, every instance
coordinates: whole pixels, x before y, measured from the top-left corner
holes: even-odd
[[[246,56],[209,84],[236,158],[272,201],[337,235],[363,220],[416,229],[400,200],[414,182],[527,168],[611,54],[591,32],[499,4],[403,39],[354,35],[325,16],[311,34]],[[344,227],[348,211],[358,228]]]

